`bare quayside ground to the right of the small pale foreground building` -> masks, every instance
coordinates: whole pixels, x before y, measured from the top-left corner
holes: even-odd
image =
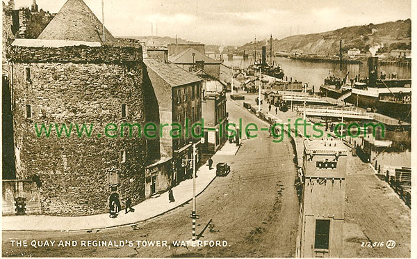
[[[410,258],[411,210],[374,168],[359,157],[347,157],[343,257]],[[386,242],[393,240],[389,249]],[[384,242],[369,248],[365,242]]]

